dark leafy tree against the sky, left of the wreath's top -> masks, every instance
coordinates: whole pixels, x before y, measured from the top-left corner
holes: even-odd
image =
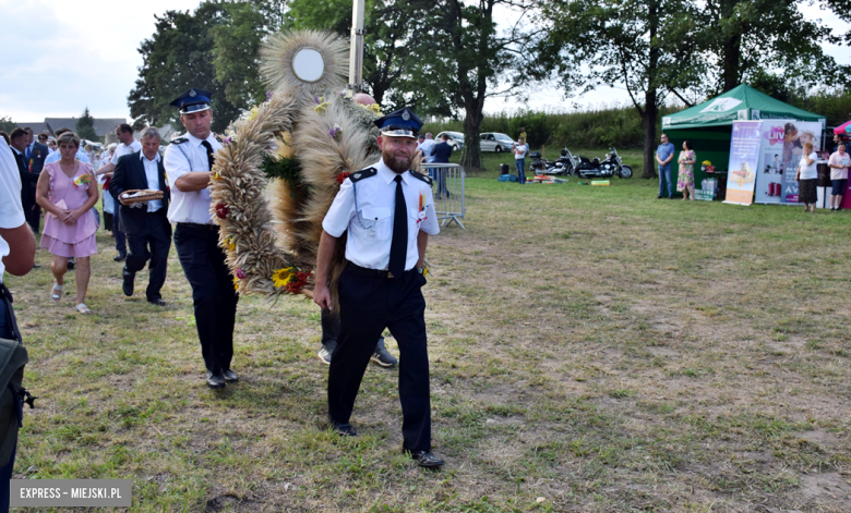
[[[224,4],[203,2],[194,13],[167,11],[155,16],[156,32],[139,48],[142,66],[135,87],[128,96],[130,115],[161,126],[180,125],[178,110],[169,103],[190,87],[213,94],[213,131],[221,132],[249,105],[228,100],[225,86],[216,80],[213,64],[213,28],[228,15]]]

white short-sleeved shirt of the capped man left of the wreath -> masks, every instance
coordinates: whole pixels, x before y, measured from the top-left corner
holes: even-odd
[[[166,148],[163,163],[166,166],[168,183],[171,184],[171,201],[168,204],[168,220],[170,222],[194,222],[197,224],[213,224],[213,216],[209,213],[209,188],[183,193],[175,186],[177,180],[190,171],[209,171],[207,162],[207,149],[201,144],[204,141],[192,134],[184,134],[185,143],[170,144]],[[207,138],[213,151],[218,150],[221,144],[211,133]]]

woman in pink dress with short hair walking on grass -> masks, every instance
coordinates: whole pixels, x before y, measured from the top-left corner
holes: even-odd
[[[89,256],[97,253],[95,215],[97,181],[92,166],[74,156],[80,149],[80,137],[65,132],[57,137],[61,155],[58,162],[45,166],[36,185],[36,203],[46,210],[41,247],[53,254],[50,270],[53,281],[50,298],[59,303],[68,270],[68,259],[76,257],[76,310],[91,314],[85,305],[88,278],[92,273]]]

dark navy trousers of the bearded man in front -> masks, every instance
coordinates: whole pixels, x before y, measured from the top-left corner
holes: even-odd
[[[429,353],[425,341],[425,278],[399,278],[348,264],[339,277],[340,332],[328,369],[328,415],[348,423],[375,341],[388,328],[399,345],[403,449],[431,450]]]

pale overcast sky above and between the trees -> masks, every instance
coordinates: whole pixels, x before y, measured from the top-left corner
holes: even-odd
[[[79,117],[87,106],[95,118],[129,118],[127,96],[142,64],[136,49],[153,35],[154,14],[194,9],[199,3],[0,0],[0,117],[35,122],[46,117]],[[816,8],[810,8],[807,16],[847,29]],[[839,62],[851,63],[848,48],[827,51]],[[627,100],[622,89],[603,87],[567,102],[555,88],[543,87],[530,95],[526,106],[516,99],[492,99],[486,110],[566,110],[573,102],[601,107]]]

